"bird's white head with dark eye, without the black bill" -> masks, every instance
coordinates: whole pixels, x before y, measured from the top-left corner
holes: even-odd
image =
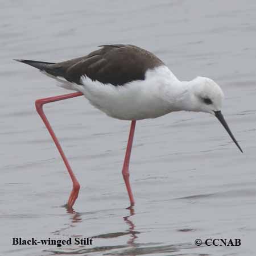
[[[207,77],[196,77],[189,82],[191,111],[215,114],[220,111],[224,93],[220,86]]]

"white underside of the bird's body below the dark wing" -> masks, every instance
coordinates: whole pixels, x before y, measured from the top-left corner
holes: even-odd
[[[86,76],[81,77],[82,85],[54,78],[58,86],[82,92],[90,104],[110,117],[125,120],[156,118],[170,113],[170,102],[164,100],[164,93],[170,81],[179,81],[164,65],[148,70],[144,80],[122,86],[102,84]]]

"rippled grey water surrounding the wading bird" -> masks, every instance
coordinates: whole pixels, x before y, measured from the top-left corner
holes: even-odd
[[[255,255],[255,1],[1,1],[1,254]],[[65,93],[12,59],[60,61],[106,43],[158,55],[177,77],[214,79],[241,154],[216,118],[139,121],[131,156],[136,205],[121,168],[129,122],[82,97],[45,106],[81,183],[75,212],[64,164],[34,108]],[[93,245],[11,245],[12,237],[93,237]],[[240,238],[241,246],[196,246]]]

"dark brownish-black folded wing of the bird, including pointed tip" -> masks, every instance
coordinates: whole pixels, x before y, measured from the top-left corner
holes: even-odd
[[[144,80],[147,69],[164,65],[154,54],[137,46],[112,44],[100,47],[84,57],[60,63],[19,61],[76,84],[81,84],[81,76],[86,75],[104,84],[123,85],[133,80]]]

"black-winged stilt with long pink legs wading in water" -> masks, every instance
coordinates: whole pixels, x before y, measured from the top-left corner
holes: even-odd
[[[43,112],[43,105],[50,102],[84,96],[90,104],[109,117],[131,121],[122,167],[130,200],[128,208],[135,204],[129,179],[129,163],[135,125],[139,120],[179,111],[209,113],[221,122],[243,152],[222,115],[224,93],[220,86],[212,79],[201,76],[191,81],[180,81],[162,60],[146,49],[131,44],[104,44],[88,55],[57,63],[15,60],[39,69],[57,80],[57,85],[75,91],[35,101],[36,110],[56,144],[72,180],[73,187],[66,204],[68,209],[73,209],[80,184]]]

